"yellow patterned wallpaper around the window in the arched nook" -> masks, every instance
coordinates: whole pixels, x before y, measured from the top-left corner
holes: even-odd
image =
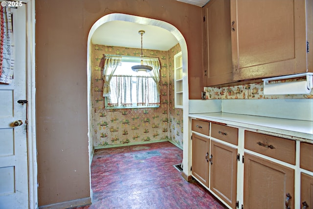
[[[173,108],[174,60],[171,60],[174,57],[172,54],[180,50],[178,47],[179,45],[174,46],[169,51],[146,49],[143,51],[145,56],[158,57],[160,61],[161,105],[159,108],[106,110],[104,97],[102,97],[100,59],[103,54],[139,57],[141,49],[93,45],[93,143],[96,148],[158,140],[172,140],[182,147],[182,113]]]

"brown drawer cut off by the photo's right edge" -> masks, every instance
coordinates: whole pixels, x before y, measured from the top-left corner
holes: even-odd
[[[300,143],[300,167],[313,172],[313,144]]]

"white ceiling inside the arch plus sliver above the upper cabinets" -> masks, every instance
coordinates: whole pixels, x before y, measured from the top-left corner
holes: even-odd
[[[208,0],[178,0],[181,2],[203,6]],[[93,33],[93,44],[106,46],[125,46],[131,48],[141,47],[139,30],[146,33],[142,37],[142,47],[168,51],[178,44],[178,40],[168,30],[148,24],[139,24],[126,21],[110,21],[100,25]]]

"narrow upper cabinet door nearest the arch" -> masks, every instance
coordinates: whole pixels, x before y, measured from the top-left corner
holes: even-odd
[[[206,86],[233,82],[230,0],[211,0],[204,7],[203,65]]]

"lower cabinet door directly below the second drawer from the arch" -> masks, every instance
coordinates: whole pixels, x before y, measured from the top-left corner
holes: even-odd
[[[232,208],[237,196],[237,149],[211,140],[210,189]]]

